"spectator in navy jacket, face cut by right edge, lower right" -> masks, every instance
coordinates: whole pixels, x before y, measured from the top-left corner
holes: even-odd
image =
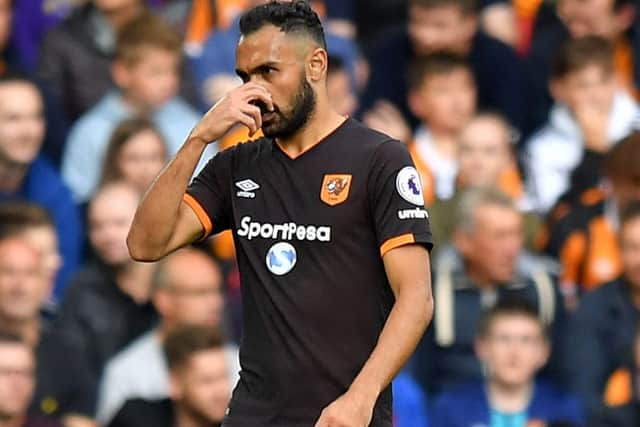
[[[621,377],[612,374],[629,366],[640,321],[640,202],[623,210],[619,237],[622,276],[584,296],[565,337],[570,384],[593,420],[600,419],[605,405],[613,403],[613,397],[603,396],[634,394],[631,381],[625,387],[625,381],[615,381]]]

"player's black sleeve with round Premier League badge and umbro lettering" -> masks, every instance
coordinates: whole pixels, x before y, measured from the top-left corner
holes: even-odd
[[[433,246],[420,175],[404,144],[387,141],[373,156],[369,200],[380,255],[399,246]]]

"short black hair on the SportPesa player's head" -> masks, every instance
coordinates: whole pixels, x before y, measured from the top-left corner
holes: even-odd
[[[248,10],[240,18],[240,33],[248,36],[265,25],[273,25],[285,34],[307,35],[327,48],[320,18],[304,0],[271,1]]]

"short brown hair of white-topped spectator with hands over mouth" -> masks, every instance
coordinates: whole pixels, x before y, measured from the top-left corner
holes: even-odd
[[[613,74],[614,51],[607,39],[584,36],[565,41],[556,52],[551,64],[551,77],[563,78],[589,65],[598,65],[606,73]]]

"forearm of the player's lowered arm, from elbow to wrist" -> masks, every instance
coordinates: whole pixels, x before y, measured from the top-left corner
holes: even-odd
[[[377,399],[407,362],[433,314],[429,284],[405,287],[382,329],[378,344],[353,381],[350,390]]]

